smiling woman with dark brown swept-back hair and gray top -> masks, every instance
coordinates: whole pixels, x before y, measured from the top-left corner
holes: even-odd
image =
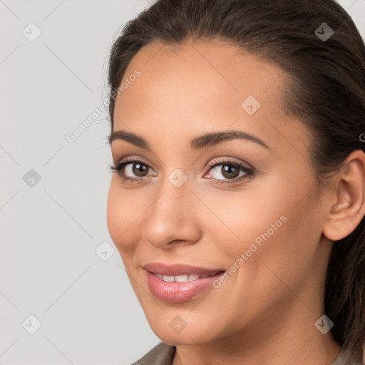
[[[135,364],[363,364],[365,47],[332,0],[160,0],[110,53]]]

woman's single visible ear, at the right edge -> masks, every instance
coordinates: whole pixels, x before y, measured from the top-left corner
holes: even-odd
[[[365,153],[353,151],[334,178],[323,233],[332,241],[348,236],[365,214]],[[334,202],[333,202],[334,201]]]

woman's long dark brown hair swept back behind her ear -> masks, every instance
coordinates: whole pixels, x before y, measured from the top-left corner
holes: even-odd
[[[334,34],[315,33],[326,23]],[[323,33],[323,31],[322,31]],[[309,130],[317,182],[364,150],[365,46],[354,21],[333,0],[158,0],[128,21],[110,51],[110,91],[130,60],[153,42],[220,40],[273,61],[288,75],[283,105]],[[114,94],[115,95],[115,94]],[[113,131],[115,98],[110,95]],[[324,290],[331,334],[342,346],[365,340],[365,220],[334,243]]]

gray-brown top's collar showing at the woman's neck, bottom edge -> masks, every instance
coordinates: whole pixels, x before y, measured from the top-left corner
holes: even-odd
[[[172,365],[176,347],[160,342],[131,365]],[[331,365],[365,365],[362,362],[362,352],[351,352],[351,349],[342,347]]]

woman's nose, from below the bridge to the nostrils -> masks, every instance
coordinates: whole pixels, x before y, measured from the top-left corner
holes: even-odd
[[[201,235],[198,204],[188,180],[176,187],[165,178],[146,212],[142,237],[163,249],[197,242]]]

